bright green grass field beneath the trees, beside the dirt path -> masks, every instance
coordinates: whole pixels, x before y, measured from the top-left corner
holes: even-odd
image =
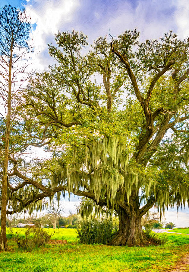
[[[19,229],[24,234],[24,229]],[[49,232],[52,232],[49,229]],[[75,229],[56,229],[52,239],[77,241]],[[180,231],[178,231],[180,232]],[[49,244],[31,252],[17,249],[8,240],[10,251],[0,254],[0,271],[3,272],[59,272],[59,271],[167,271],[175,261],[187,254],[189,235],[167,234],[165,246],[113,247],[105,245]],[[62,238],[63,237],[63,238]]]

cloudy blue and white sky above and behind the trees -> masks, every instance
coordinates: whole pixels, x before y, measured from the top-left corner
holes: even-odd
[[[0,7],[7,4],[24,7],[31,15],[35,71],[54,63],[47,44],[55,44],[58,31],[83,32],[89,45],[99,36],[117,36],[134,28],[140,31],[141,41],[159,38],[169,30],[179,38],[189,36],[188,0],[0,0]],[[74,211],[77,203],[77,197],[65,201],[65,214]],[[176,209],[169,210],[165,218],[177,226],[189,226],[189,209],[179,211],[178,217]]]

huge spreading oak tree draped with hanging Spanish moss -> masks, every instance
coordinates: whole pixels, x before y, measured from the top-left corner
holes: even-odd
[[[162,214],[189,203],[189,40],[169,32],[140,43],[135,29],[110,42],[99,38],[82,55],[86,39],[56,34],[49,52],[57,65],[23,94],[22,118],[35,124],[52,157],[33,161],[32,177],[14,160],[10,176],[20,183],[8,185],[7,213],[74,193],[91,200],[85,214],[94,205],[117,212],[110,244],[149,244],[142,216],[154,205]]]

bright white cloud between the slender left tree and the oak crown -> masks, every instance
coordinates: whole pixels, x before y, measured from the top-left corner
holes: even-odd
[[[78,7],[77,0],[58,1],[28,1],[25,5],[28,15],[31,15],[31,24],[36,24],[36,29],[31,33],[32,43],[35,46],[33,55],[34,70],[43,70],[49,64],[47,43],[54,41],[54,34],[61,26],[72,20],[73,12]]]

